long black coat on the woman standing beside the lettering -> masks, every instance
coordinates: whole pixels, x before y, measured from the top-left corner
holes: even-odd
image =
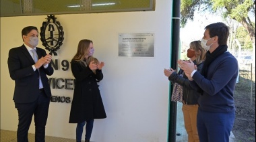
[[[75,76],[75,89],[69,123],[82,123],[86,120],[106,118],[96,81],[103,79],[102,70],[96,70],[96,74],[94,74],[88,66],[74,60],[71,61],[71,70]]]

